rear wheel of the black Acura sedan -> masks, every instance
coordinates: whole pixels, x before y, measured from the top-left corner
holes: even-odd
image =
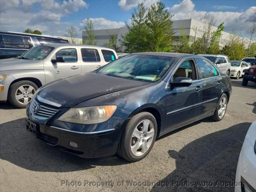
[[[227,104],[228,104],[228,97],[226,94],[222,94],[218,102],[218,105],[216,107],[216,110],[214,112],[214,115],[212,116],[212,118],[215,121],[220,121],[224,118],[227,110]]]

